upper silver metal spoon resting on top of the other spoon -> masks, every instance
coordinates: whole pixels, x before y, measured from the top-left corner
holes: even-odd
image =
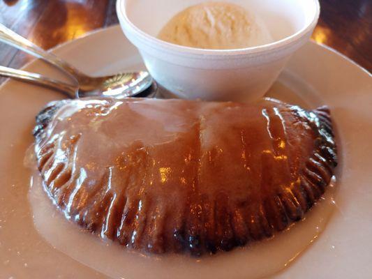
[[[43,50],[26,38],[11,31],[3,26],[3,24],[0,24],[0,41],[8,45],[13,45],[64,70],[70,77],[73,77],[76,85],[78,84],[78,97],[110,96],[114,98],[125,98],[135,96],[148,89],[151,84],[154,84],[151,75],[145,71],[119,73],[106,77],[90,77],[51,52]]]

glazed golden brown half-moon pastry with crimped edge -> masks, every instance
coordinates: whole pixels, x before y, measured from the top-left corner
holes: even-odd
[[[303,218],[336,167],[327,107],[81,99],[36,122],[38,169],[65,216],[149,252],[270,237]]]

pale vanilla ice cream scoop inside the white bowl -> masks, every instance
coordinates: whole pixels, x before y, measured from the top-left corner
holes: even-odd
[[[271,43],[269,31],[248,11],[232,3],[207,2],[181,11],[158,38],[176,45],[226,50]]]

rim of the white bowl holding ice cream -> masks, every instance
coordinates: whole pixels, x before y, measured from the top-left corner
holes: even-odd
[[[260,54],[262,52],[267,52],[269,50],[276,50],[286,47],[290,43],[294,43],[295,41],[301,39],[302,37],[306,36],[309,31],[312,31],[315,28],[315,25],[318,23],[319,15],[320,15],[320,3],[319,0],[311,0],[315,5],[315,13],[313,14],[313,19],[311,22],[306,24],[302,29],[299,31],[292,33],[292,35],[287,36],[281,40],[276,40],[273,43],[268,43],[265,45],[258,45],[255,47],[246,47],[246,48],[239,48],[239,49],[229,49],[229,50],[209,50],[209,49],[202,49],[196,47],[185,47],[183,45],[176,45],[173,43],[165,42],[164,40],[160,40],[154,36],[151,36],[149,33],[142,31],[140,28],[135,26],[131,20],[129,20],[128,15],[126,13],[125,2],[127,0],[117,0],[117,15],[119,17],[119,21],[124,21],[124,24],[129,27],[129,31],[135,33],[135,35],[142,40],[142,43],[148,45],[151,48],[156,48],[158,50],[164,50],[165,48],[167,51],[174,52],[177,54],[184,54],[187,55],[203,55],[203,56],[225,56],[225,55],[246,55],[246,54]]]

